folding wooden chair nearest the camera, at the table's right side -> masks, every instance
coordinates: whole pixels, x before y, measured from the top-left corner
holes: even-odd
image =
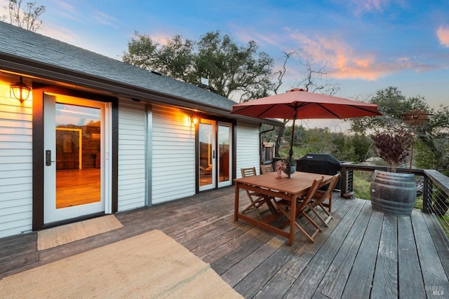
[[[314,197],[316,191],[318,190],[318,188],[320,187],[321,183],[323,182],[323,179],[324,179],[323,176],[321,176],[321,179],[314,180],[313,183],[311,184],[310,188],[309,188],[309,191],[307,191],[307,194],[304,195],[304,197],[299,197],[297,199],[297,204],[296,204],[295,219],[298,218],[299,216],[304,216],[304,218],[306,218],[307,221],[309,221],[309,223],[311,223],[311,225],[314,226],[315,230],[314,230],[314,232],[312,232],[309,235],[309,233],[307,233],[306,230],[304,230],[304,228],[302,228],[301,225],[299,225],[297,223],[297,221],[295,221],[295,226],[312,243],[314,242],[314,237],[316,236],[316,234],[321,232],[321,228],[319,227],[319,225],[317,225],[312,220],[312,218],[309,217],[309,215],[307,215],[307,213],[304,213],[304,211],[307,209],[307,207],[309,207],[309,203],[311,202],[311,200]],[[291,209],[289,209],[291,207],[291,202],[290,201],[288,201],[288,200],[279,200],[279,201],[276,202],[276,206],[282,212],[282,214],[284,214],[287,218],[290,219],[290,213],[291,213]],[[285,226],[284,226],[284,228],[285,228]]]

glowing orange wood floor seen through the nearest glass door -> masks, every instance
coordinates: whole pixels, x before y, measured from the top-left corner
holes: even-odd
[[[100,201],[100,168],[56,172],[56,209]]]

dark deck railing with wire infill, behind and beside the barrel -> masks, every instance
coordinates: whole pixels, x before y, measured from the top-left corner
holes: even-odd
[[[387,171],[387,167],[353,164],[351,162],[342,162],[340,164],[341,195],[354,193],[354,170],[374,172],[375,169]],[[434,169],[408,169],[398,168],[396,172],[412,173],[415,176],[421,176],[417,181],[422,182],[422,211],[428,214],[434,214],[445,235],[449,236],[449,178]]]

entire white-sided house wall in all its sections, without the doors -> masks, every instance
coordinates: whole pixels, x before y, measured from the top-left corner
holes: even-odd
[[[0,78],[0,237],[32,230],[32,95],[11,99]],[[159,204],[196,193],[195,127],[189,113],[119,99],[118,210]],[[260,172],[259,127],[236,125],[236,175]]]

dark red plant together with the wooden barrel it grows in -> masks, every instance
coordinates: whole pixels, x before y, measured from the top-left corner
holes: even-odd
[[[412,143],[405,127],[377,130],[371,136],[375,152],[387,162],[387,172],[375,170],[371,181],[371,206],[377,211],[408,216],[416,200],[415,174],[396,173],[404,165]]]

